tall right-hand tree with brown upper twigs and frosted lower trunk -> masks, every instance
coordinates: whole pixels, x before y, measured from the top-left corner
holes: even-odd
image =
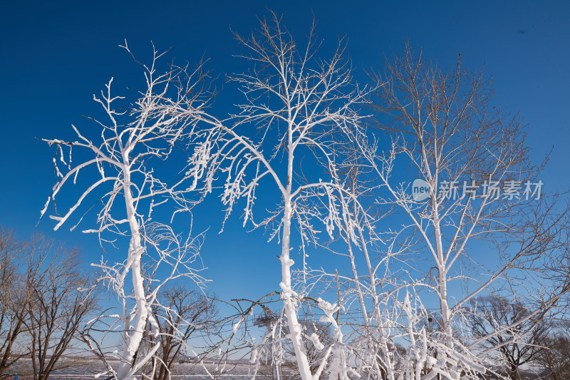
[[[531,291],[519,287],[540,299],[529,318],[551,307],[568,289],[567,281],[549,289],[540,269],[546,257],[566,250],[568,214],[554,206],[556,197],[544,196],[522,123],[492,105],[492,83],[482,73],[465,70],[460,59],[452,70],[441,71],[406,46],[372,78],[374,126],[391,135],[392,144],[385,152],[375,143],[358,146],[378,215],[390,215],[378,227],[381,260],[367,263],[370,280],[363,289],[374,300],[375,313],[387,307],[383,317],[375,315],[378,327],[368,339],[393,341],[385,327],[393,337],[405,337],[408,357],[400,364],[410,367],[405,373],[393,369],[393,354],[380,354],[390,351],[386,346],[371,353],[380,363],[368,366],[388,370],[388,379],[475,379],[483,370],[477,350],[488,337],[464,334],[466,305],[504,284],[517,287],[518,274],[534,276],[540,285]],[[396,169],[403,167],[414,177]],[[370,185],[374,178],[378,183]],[[353,281],[361,282],[356,275]],[[400,291],[409,287],[415,289],[413,298]],[[379,300],[377,288],[383,291]],[[398,300],[398,293],[405,299]],[[427,312],[432,295],[437,310]],[[366,314],[365,319],[373,315]],[[437,320],[431,332],[428,318]]]

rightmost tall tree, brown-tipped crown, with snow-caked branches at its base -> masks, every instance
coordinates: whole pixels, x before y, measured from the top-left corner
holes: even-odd
[[[566,268],[568,212],[540,192],[524,128],[492,106],[481,73],[460,61],[442,72],[406,46],[372,78],[375,128],[366,138],[358,131],[351,160],[339,165],[350,173],[353,195],[339,197],[352,212],[338,226],[348,245],[335,252],[350,272],[305,275],[313,291],[334,277],[342,284],[339,304],[351,317],[346,339],[361,373],[477,379],[492,370],[488,339],[527,322],[505,343],[522,346],[569,289],[566,269],[555,269]],[[470,305],[504,286],[535,305],[527,320],[473,337]]]

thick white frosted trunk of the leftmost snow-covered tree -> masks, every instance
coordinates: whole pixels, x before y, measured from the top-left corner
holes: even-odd
[[[125,173],[125,204],[127,210],[127,219],[130,227],[130,244],[128,252],[128,262],[130,263],[130,272],[133,279],[133,294],[135,296],[136,317],[133,328],[130,327],[130,317],[125,315],[123,329],[123,352],[121,354],[121,362],[117,371],[119,380],[134,380],[135,376],[131,373],[133,369],[133,360],[142,342],[143,333],[148,319],[147,300],[144,287],[144,278],[141,272],[141,257],[144,247],[141,244],[140,226],[136,217],[135,202],[133,200],[133,192],[130,188],[130,172]],[[129,267],[129,265],[128,265]]]

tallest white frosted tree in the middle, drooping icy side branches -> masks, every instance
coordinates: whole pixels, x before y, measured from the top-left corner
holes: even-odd
[[[287,338],[301,378],[317,379],[326,370],[334,379],[337,374],[345,379],[349,366],[343,361],[340,329],[336,329],[336,342],[327,354],[335,358],[333,366],[311,371],[303,344],[307,338],[297,314],[304,295],[295,292],[291,282],[291,239],[301,245],[303,263],[299,268],[303,270],[309,256],[305,247],[318,239],[318,225],[332,236],[343,219],[350,218],[351,210],[342,207],[339,197],[349,198],[353,193],[337,163],[346,154],[343,146],[349,142],[348,136],[358,135],[361,115],[357,109],[366,90],[353,83],[344,41],[331,57],[321,59],[316,55],[320,43],[313,29],[306,46],[300,48],[276,14],[260,24],[259,31],[249,38],[236,35],[245,50],[242,57],[252,66],[246,73],[229,77],[244,96],[239,113],[213,128],[212,137],[200,149],[209,160],[207,183],[212,186],[223,175],[226,218],[237,202],[244,200],[244,226],[265,227],[270,240],[281,242],[279,286]],[[195,167],[195,161],[190,165]],[[258,188],[263,189],[264,201],[257,198]],[[258,202],[269,210],[260,220],[254,212]],[[292,231],[294,224],[299,235]],[[351,232],[349,238],[356,237]],[[330,315],[338,305],[321,301],[318,307]]]

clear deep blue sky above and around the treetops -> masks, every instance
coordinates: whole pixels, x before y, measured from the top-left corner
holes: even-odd
[[[282,13],[299,38],[313,14],[326,42],[348,36],[361,80],[363,68],[381,68],[383,54],[399,52],[406,38],[442,66],[458,52],[465,66],[484,65],[495,81],[494,101],[521,111],[528,123],[532,157],[539,160],[554,146],[545,190],[569,188],[566,1],[11,1],[0,9],[0,225],[21,238],[38,231],[79,245],[87,261],[97,261],[95,236],[53,232],[47,218],[36,227],[55,183],[53,150],[36,138],[71,138],[71,123],[92,127],[81,115],[98,112],[93,93],[111,76],[138,83],[140,72],[118,48],[124,38],[141,56],[150,53],[152,40],[160,50],[172,46],[179,61],[205,54],[216,73],[235,71],[242,63],[232,58],[239,48],[229,28],[249,33],[266,7]],[[202,250],[211,268],[205,275],[222,298],[260,297],[278,287],[279,247],[257,232],[245,234],[237,216],[219,236],[221,211],[195,215],[203,228],[212,226]]]

